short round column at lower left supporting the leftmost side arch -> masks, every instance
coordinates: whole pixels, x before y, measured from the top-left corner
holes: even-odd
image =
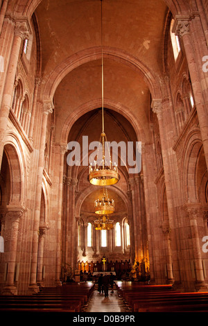
[[[17,256],[17,239],[19,230],[19,221],[24,209],[13,207],[6,213],[6,218],[10,219],[10,245],[8,252],[8,272],[6,278],[6,285],[3,287],[2,295],[17,295],[17,287],[14,284],[15,281],[15,264]]]

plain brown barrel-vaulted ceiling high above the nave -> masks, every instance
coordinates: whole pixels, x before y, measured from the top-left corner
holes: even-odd
[[[102,16],[101,0],[40,3],[35,15],[44,82],[64,67],[54,92],[56,141],[69,117],[101,107],[101,44],[105,107],[127,114],[150,139],[146,79],[162,76],[167,12],[163,0],[103,0]]]

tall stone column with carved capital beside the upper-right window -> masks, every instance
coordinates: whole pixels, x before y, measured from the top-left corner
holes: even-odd
[[[191,76],[191,85],[193,89],[193,96],[195,98],[196,110],[198,113],[198,121],[200,124],[200,132],[202,135],[203,147],[205,151],[205,160],[208,167],[208,117],[207,108],[205,107],[204,96],[202,94],[202,86],[200,83],[200,74],[196,62],[196,49],[193,48],[193,40],[189,29],[189,20],[177,17],[175,19],[175,26],[173,26],[175,34],[180,35],[184,50],[187,56],[187,63],[189,66],[189,73]],[[202,71],[202,67],[200,67]],[[207,78],[205,78],[206,80]]]

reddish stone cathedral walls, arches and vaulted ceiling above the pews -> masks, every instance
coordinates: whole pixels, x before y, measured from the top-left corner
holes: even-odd
[[[1,294],[103,268],[207,291],[207,44],[207,0],[0,0]],[[105,187],[88,146],[104,121],[119,174]]]

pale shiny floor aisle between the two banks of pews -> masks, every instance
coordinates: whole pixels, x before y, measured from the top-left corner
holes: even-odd
[[[116,289],[114,289],[114,293],[111,293],[111,289],[109,289],[108,298],[105,298],[104,293],[98,292],[96,284],[83,312],[130,312],[130,310],[124,304],[123,299],[119,298]]]

